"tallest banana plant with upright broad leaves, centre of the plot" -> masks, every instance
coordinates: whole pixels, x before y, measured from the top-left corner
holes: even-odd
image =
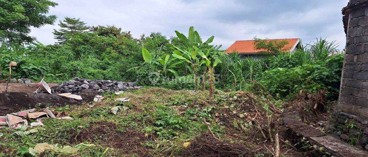
[[[175,49],[172,56],[184,61],[186,64],[189,64],[185,66],[193,74],[195,80],[195,90],[198,90],[197,71],[200,68],[202,57],[205,56],[202,51],[198,50],[209,47],[209,44],[213,41],[214,36],[211,36],[206,42],[203,43],[201,36],[196,30],[194,30],[193,26],[189,27],[188,37],[177,30],[175,30],[175,33],[178,38],[184,42],[186,48],[181,49],[172,45],[172,47]]]

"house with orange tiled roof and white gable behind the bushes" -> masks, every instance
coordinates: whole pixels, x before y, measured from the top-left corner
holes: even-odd
[[[288,44],[281,50],[282,52],[294,52],[301,48],[301,43],[299,38],[289,38],[289,39],[265,39],[266,42],[269,41],[287,41]],[[226,53],[238,53],[243,57],[255,57],[255,58],[263,58],[270,53],[267,53],[266,50],[257,50],[255,48],[255,40],[238,40],[234,42],[228,49],[225,51]]]

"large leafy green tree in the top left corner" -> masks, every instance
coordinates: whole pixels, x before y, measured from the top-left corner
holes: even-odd
[[[50,0],[0,0],[0,44],[30,43],[30,27],[52,25],[55,15],[47,15],[57,3]]]

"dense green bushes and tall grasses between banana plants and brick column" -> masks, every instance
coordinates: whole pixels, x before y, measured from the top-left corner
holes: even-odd
[[[343,54],[331,56],[333,51],[334,42],[317,39],[296,52],[281,52],[262,60],[233,53],[222,57],[216,73],[222,88],[263,89],[278,98],[293,97],[300,90],[314,93],[326,89],[329,98],[337,99]]]

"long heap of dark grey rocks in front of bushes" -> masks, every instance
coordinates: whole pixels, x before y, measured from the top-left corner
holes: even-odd
[[[99,93],[126,91],[131,89],[139,89],[143,86],[137,86],[135,82],[123,82],[116,80],[91,80],[83,78],[73,78],[73,80],[65,81],[57,86],[52,87],[53,93],[73,93],[79,94],[84,89],[93,89]]]

